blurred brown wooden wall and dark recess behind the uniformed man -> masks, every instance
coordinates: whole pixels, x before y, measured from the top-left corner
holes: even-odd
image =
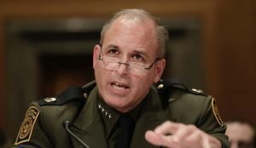
[[[211,94],[224,121],[256,123],[254,0],[0,0],[0,128],[10,141],[33,100],[94,80],[102,24],[132,8],[169,30],[163,77]]]

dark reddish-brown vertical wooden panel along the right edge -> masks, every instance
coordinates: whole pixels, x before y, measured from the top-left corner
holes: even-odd
[[[252,0],[222,1],[218,11],[218,97],[226,120],[256,123],[256,18]]]

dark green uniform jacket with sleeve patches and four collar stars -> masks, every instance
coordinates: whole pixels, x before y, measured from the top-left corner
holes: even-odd
[[[218,116],[212,96],[172,85],[167,85],[164,90],[160,92],[155,87],[150,88],[143,102],[129,112],[136,121],[131,148],[158,147],[149,144],[144,134],[166,120],[194,124],[219,139],[224,148],[229,147],[224,134],[226,126]],[[116,122],[120,114],[106,105],[97,91],[96,83],[89,83],[82,89],[67,90],[58,97],[32,102],[15,145],[82,148],[83,145],[63,128],[62,123],[68,120],[72,123],[70,129],[73,134],[90,148],[114,148],[119,130]]]

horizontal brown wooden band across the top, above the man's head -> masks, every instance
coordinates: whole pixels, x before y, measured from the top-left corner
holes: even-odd
[[[15,16],[37,16],[37,17],[68,17],[73,16],[109,16],[120,9],[138,8],[147,9],[154,14],[203,14],[202,10],[207,10],[212,5],[211,1],[73,1],[66,2],[45,2],[45,1],[15,1],[1,3],[3,14],[9,17]]]

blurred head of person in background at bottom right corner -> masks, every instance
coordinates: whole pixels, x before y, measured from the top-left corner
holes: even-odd
[[[255,129],[248,122],[226,122],[226,134],[230,139],[230,148],[254,148]]]

